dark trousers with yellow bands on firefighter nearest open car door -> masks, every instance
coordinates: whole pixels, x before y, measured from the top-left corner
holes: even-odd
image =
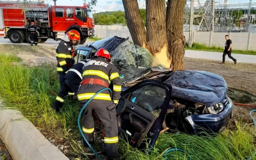
[[[84,103],[80,103],[83,107]],[[97,114],[104,126],[104,146],[107,159],[114,159],[118,156],[118,129],[116,120],[116,106],[109,102],[90,102],[84,109],[83,133],[87,141],[93,144],[94,119],[93,111]]]

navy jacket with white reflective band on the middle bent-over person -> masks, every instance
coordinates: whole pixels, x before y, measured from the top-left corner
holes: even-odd
[[[71,80],[71,81],[73,81],[75,83],[78,83],[78,85],[79,85],[80,82],[83,80],[83,77],[82,77],[83,66],[88,61],[90,61],[90,60],[89,59],[81,60],[80,62],[78,62],[77,64],[72,66],[68,70],[67,74],[65,75],[65,79]]]

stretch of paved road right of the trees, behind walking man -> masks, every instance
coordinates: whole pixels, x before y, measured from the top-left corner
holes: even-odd
[[[222,54],[223,53],[219,53],[219,52],[206,52],[206,51],[197,51],[197,50],[185,51],[185,57],[219,60],[220,62],[222,62]],[[238,63],[245,62],[245,63],[256,64],[256,56],[254,55],[231,54],[231,56],[236,58]],[[226,55],[226,61],[232,61],[232,60]]]

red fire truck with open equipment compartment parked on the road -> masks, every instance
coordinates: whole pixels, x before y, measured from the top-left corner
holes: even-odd
[[[79,44],[85,43],[87,37],[94,36],[93,15],[86,4],[82,7],[49,6],[0,1],[0,37],[9,38],[12,43],[30,43],[28,27],[31,22],[38,26],[38,42],[45,42],[48,38],[58,41],[71,29],[80,33]]]

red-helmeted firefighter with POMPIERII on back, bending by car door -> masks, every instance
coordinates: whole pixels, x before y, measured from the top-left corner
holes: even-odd
[[[88,142],[93,144],[94,111],[104,126],[106,157],[109,160],[118,159],[116,104],[120,99],[121,79],[116,66],[110,63],[107,50],[99,49],[93,58],[83,68],[83,81],[77,95],[81,107],[99,90],[109,88],[110,83],[113,84],[113,92],[111,98],[108,90],[103,91],[88,104],[84,109],[82,130]],[[84,145],[87,146],[86,143]]]

